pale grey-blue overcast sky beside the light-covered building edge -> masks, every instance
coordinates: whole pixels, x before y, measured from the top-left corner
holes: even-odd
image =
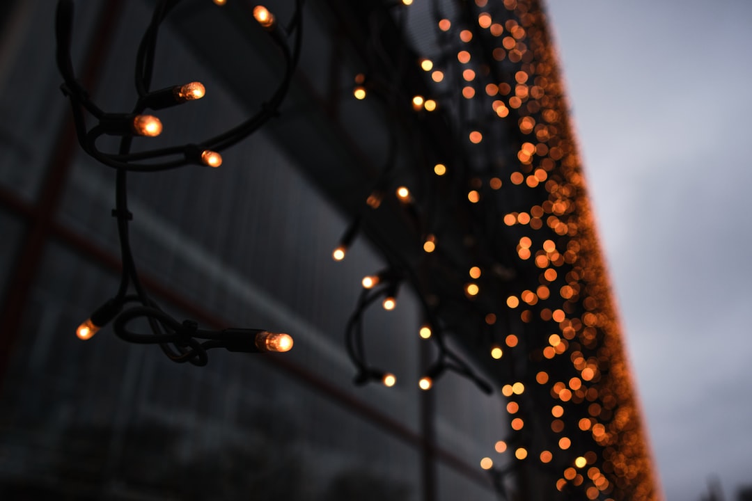
[[[752,0],[547,0],[667,501],[752,485]]]

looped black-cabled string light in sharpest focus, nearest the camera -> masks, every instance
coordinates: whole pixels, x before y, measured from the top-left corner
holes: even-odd
[[[190,362],[194,365],[208,363],[207,351],[224,348],[232,352],[287,352],[293,347],[293,338],[287,333],[271,333],[262,329],[199,329],[194,321],[178,322],[162,311],[141,285],[136,271],[135,259],[129,243],[129,221],[126,177],[129,172],[156,172],[182,168],[189,164],[218,168],[223,163],[221,151],[235,145],[253,134],[271,119],[287,95],[290,79],[298,61],[302,32],[302,0],[296,0],[296,11],[290,23],[283,29],[271,11],[257,5],[250,12],[259,26],[271,37],[280,49],[284,64],[284,77],[271,98],[260,110],[244,122],[211,137],[202,143],[168,146],[130,152],[138,137],[159,137],[162,122],[147,110],[162,110],[201,99],[206,89],[200,82],[190,82],[166,89],[150,89],[156,53],[159,27],[180,0],[156,2],[154,14],[144,32],[136,54],[135,86],[138,98],[131,113],[108,113],[99,108],[89,92],[80,85],[74,74],[71,61],[71,45],[74,34],[72,0],[59,0],[56,13],[56,60],[64,83],[62,92],[71,101],[77,137],[83,150],[92,158],[116,171],[116,196],[113,215],[117,219],[123,271],[117,294],[97,308],[77,328],[81,340],[91,339],[98,330],[113,322],[118,337],[130,343],[158,344],[165,355],[175,362]],[[214,0],[216,5],[225,5],[226,0]],[[289,35],[287,35],[289,34]],[[290,46],[290,41],[292,47]],[[93,126],[87,125],[94,122]],[[117,152],[105,152],[97,144],[102,135],[120,137]],[[129,289],[135,294],[129,294]],[[132,306],[135,303],[137,306]],[[131,306],[129,306],[131,305]],[[126,306],[129,306],[126,309]],[[136,318],[145,318],[150,332],[135,333],[129,323]]]

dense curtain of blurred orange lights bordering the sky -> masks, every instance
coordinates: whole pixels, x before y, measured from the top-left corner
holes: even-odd
[[[426,297],[434,291],[413,276],[414,268],[437,266],[436,273],[456,276],[455,293],[442,291],[439,302],[461,305],[463,315],[477,315],[478,323],[492,330],[486,353],[499,367],[497,376],[509,378],[510,367],[516,371],[500,385],[502,395],[514,399],[504,432],[514,446],[505,441],[495,446],[497,453],[508,454],[509,472],[514,465],[532,464],[545,466],[547,478],[559,472],[550,483],[551,499],[559,499],[556,490],[564,496],[560,499],[657,499],[660,491],[541,5],[536,0],[475,0],[452,15],[443,8],[443,2],[432,0],[439,52],[410,59],[426,86],[402,86],[399,68],[407,63],[398,61],[393,72],[378,74],[378,65],[367,62],[369,79],[387,83],[378,95],[388,96],[382,101],[399,110],[402,122],[410,122],[408,111],[417,116],[413,122],[423,119],[431,99],[451,122],[461,151],[456,158],[436,158],[428,165],[416,158],[409,169],[420,169],[420,174],[390,170],[395,184],[384,182],[381,189],[408,189],[405,196],[396,192],[396,207],[412,214],[423,235],[417,264],[401,264],[403,279],[429,319],[420,337],[443,340],[447,330],[440,312],[428,306]],[[404,30],[402,14],[391,12]],[[377,32],[371,32],[369,46],[382,46],[373,39]],[[384,59],[384,54],[378,56]],[[473,160],[478,158],[483,160]],[[426,171],[435,183],[396,184],[413,183]],[[452,207],[472,207],[468,213],[478,215],[468,222],[462,242],[444,234],[441,225],[426,225],[438,218],[432,203],[438,183],[469,186],[453,191],[461,198],[444,200]],[[447,264],[444,249],[458,247],[468,249],[467,262]],[[472,282],[467,281],[468,270]],[[430,365],[420,388],[432,388],[446,369],[441,363]],[[529,415],[540,406],[552,414],[538,425]],[[481,468],[497,472],[490,457]],[[494,484],[501,492],[505,483]]]

